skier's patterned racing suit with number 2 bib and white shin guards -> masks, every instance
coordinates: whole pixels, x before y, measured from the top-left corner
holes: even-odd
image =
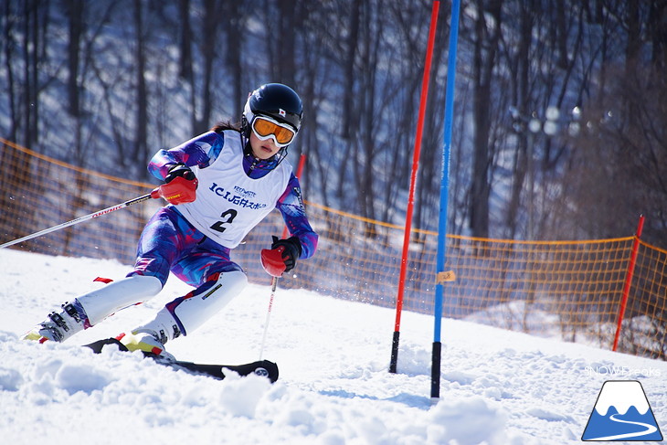
[[[149,333],[162,345],[190,334],[247,285],[246,274],[230,260],[229,251],[273,208],[281,211],[291,235],[299,238],[300,258],[312,256],[318,237],[305,216],[299,181],[291,173],[291,165],[244,154],[243,144],[240,133],[233,130],[206,132],[154,155],[149,171],[159,179],[164,179],[174,164],[192,169],[198,181],[196,199],[160,208],[143,229],[137,260],[127,277],[75,300],[69,313],[76,312],[74,318],[85,321],[79,323],[80,328],[153,297],[171,271],[196,289],[167,303],[132,334]],[[67,318],[69,313],[62,316]],[[62,339],[74,333],[75,329],[70,329]]]

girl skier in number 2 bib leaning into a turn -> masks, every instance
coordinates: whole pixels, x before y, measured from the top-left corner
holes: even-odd
[[[250,95],[240,128],[217,123],[210,132],[171,150],[160,150],[148,165],[164,180],[160,208],[145,228],[134,269],[62,304],[25,339],[63,342],[100,323],[111,313],[143,302],[163,289],[169,272],[196,289],[167,303],[155,316],[117,338],[129,350],[170,356],[164,344],[191,334],[237,296],[248,283],[230,260],[230,249],[275,207],[291,237],[273,237],[260,260],[272,276],[312,256],[317,234],[306,218],[299,181],[283,162],[301,128],[302,101],[280,83],[262,85]]]

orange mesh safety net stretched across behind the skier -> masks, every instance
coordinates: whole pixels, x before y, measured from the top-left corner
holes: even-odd
[[[58,162],[14,143],[0,153],[0,244],[150,192],[136,183]],[[143,225],[164,205],[150,200],[14,248],[133,264]],[[404,228],[306,202],[320,235],[316,255],[279,281],[356,302],[396,306]],[[269,284],[259,250],[283,228],[280,213],[253,229],[232,259],[255,283]],[[434,311],[438,234],[411,233],[403,308]],[[629,273],[633,237],[517,241],[448,236],[443,316],[611,348]],[[2,252],[0,252],[2,255]],[[667,356],[667,252],[640,243],[619,351]],[[103,273],[103,270],[101,270]],[[447,326],[444,325],[446,342]]]

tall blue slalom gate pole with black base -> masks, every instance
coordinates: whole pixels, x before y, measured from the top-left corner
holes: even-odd
[[[454,109],[454,85],[456,78],[456,49],[459,39],[459,10],[461,0],[451,2],[450,54],[447,62],[447,90],[445,96],[445,137],[442,150],[442,175],[440,179],[440,209],[438,224],[438,260],[436,262],[436,299],[434,308],[433,351],[431,356],[430,397],[440,397],[440,357],[442,344],[443,282],[450,281],[451,274],[445,272],[445,240],[447,238],[447,207],[450,187],[451,121]]]

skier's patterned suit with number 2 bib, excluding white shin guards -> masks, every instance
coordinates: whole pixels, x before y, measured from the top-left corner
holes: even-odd
[[[164,180],[174,164],[195,172],[196,200],[161,208],[143,229],[133,274],[151,275],[163,285],[169,271],[199,287],[218,272],[241,270],[230,260],[234,249],[273,208],[281,211],[292,236],[302,244],[301,259],[312,256],[317,234],[303,208],[299,180],[291,164],[243,153],[239,132],[206,132],[171,150],[160,150],[148,166]],[[271,168],[274,167],[274,168]]]

